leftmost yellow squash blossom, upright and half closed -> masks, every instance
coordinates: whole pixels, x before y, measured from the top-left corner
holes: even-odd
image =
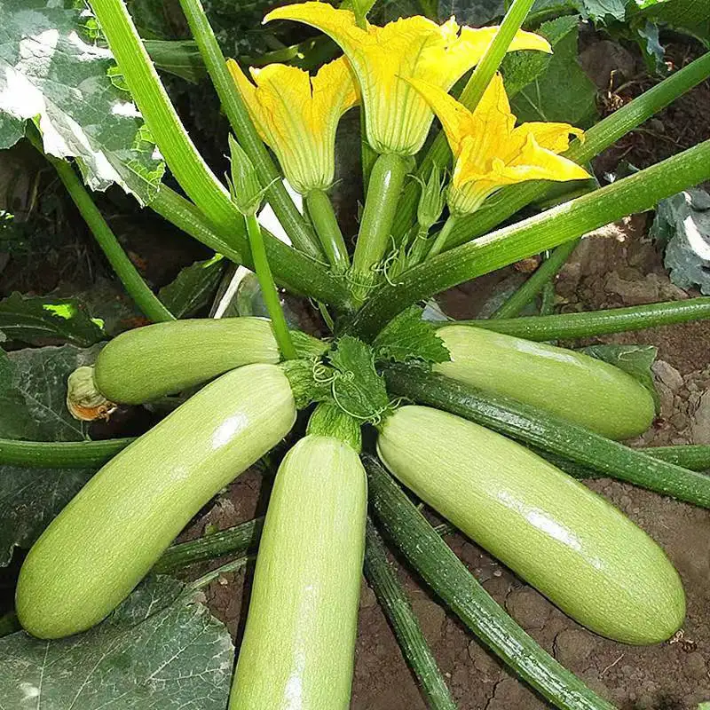
[[[254,83],[233,59],[227,65],[289,184],[301,194],[327,189],[335,174],[335,129],[359,100],[347,60],[335,59],[315,76],[285,64],[252,67]]]

